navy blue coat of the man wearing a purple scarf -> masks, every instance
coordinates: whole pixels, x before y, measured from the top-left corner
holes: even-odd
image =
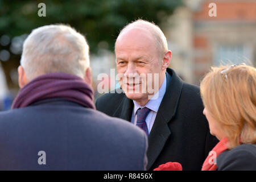
[[[146,148],[131,123],[63,99],[0,112],[0,170],[143,170]]]

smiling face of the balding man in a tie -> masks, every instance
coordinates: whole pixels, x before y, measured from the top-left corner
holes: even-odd
[[[145,105],[164,79],[154,36],[141,28],[123,32],[115,43],[115,56],[119,84],[126,96]]]

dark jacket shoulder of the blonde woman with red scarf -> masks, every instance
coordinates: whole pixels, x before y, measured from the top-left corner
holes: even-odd
[[[256,171],[256,144],[241,144],[217,157],[218,171]]]

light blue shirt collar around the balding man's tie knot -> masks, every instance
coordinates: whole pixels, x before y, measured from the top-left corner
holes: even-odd
[[[163,96],[166,93],[166,76],[164,77],[163,84],[160,86],[160,89],[157,93],[154,94],[154,96],[147,102],[145,106],[139,105],[136,101],[133,101],[134,103],[134,115],[137,113],[137,110],[139,108],[147,107],[148,109],[151,109],[152,111],[155,111],[157,113],[158,108],[162,102]]]

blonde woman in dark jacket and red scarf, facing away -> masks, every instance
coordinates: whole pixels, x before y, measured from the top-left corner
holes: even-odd
[[[256,170],[256,69],[213,67],[200,91],[210,133],[220,140],[202,170]]]

